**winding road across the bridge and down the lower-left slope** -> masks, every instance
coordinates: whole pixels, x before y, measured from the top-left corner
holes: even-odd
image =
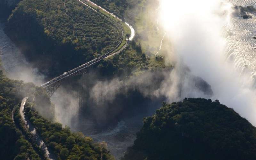
[[[116,23],[114,20],[110,19],[109,17],[103,15],[102,13],[96,11],[95,9],[93,9],[91,6],[85,4],[83,1],[86,1],[88,3],[90,3],[91,5],[94,5],[98,8],[100,8],[101,10],[103,10],[104,12],[107,12],[108,14],[114,16],[117,20],[119,21],[122,21],[120,18],[118,18],[117,16],[115,16],[114,14],[108,12],[107,10],[105,10],[104,8],[98,6],[97,4],[94,4],[93,2],[89,1],[89,0],[77,0],[78,2],[80,2],[81,4],[84,4],[86,5],[87,7],[91,8],[94,12],[97,12],[99,13],[101,16],[104,16],[105,18],[109,19],[110,21],[114,22],[116,26],[118,26],[118,28],[120,28],[121,30],[121,38],[120,38],[120,41],[119,43],[116,45],[115,48],[113,48],[111,51],[107,52],[106,54],[96,58],[96,59],[93,59],[77,68],[74,68],[68,72],[65,72],[63,73],[62,75],[56,77],[56,78],[53,78],[52,80],[44,83],[43,85],[41,85],[40,87],[43,87],[43,88],[46,88],[54,83],[57,83],[59,81],[61,81],[62,79],[68,77],[68,76],[71,76],[71,75],[76,75],[76,73],[80,72],[81,70],[84,70],[85,68],[88,68],[89,66],[92,66],[93,64],[103,60],[103,59],[106,59],[110,56],[113,56],[115,54],[119,54],[120,52],[122,52],[126,46],[127,46],[127,43],[124,44],[124,46],[122,46],[122,48],[120,48],[118,51],[114,52],[122,43],[122,41],[124,40],[124,31],[122,29],[122,27],[120,26],[120,24]],[[128,23],[125,23],[130,29],[131,29],[131,36],[127,39],[127,40],[132,40],[133,37],[135,36],[135,31],[134,29],[132,28],[132,26],[130,26]],[[36,143],[37,145],[44,151],[44,154],[47,156],[47,158],[49,160],[55,160],[56,159],[56,156],[53,154],[52,151],[49,151],[49,149],[47,148],[46,144],[44,143],[44,141],[42,140],[42,138],[38,135],[38,133],[36,132],[36,128],[33,126],[33,124],[28,120],[28,118],[24,115],[24,106],[26,104],[26,101],[28,100],[28,97],[25,97],[23,98],[21,104],[20,104],[20,115],[21,115],[21,118],[22,120],[24,121],[26,127],[29,129],[29,131],[34,135],[34,138],[36,140]],[[12,120],[13,120],[13,123],[15,123],[14,121],[14,108],[12,110]]]

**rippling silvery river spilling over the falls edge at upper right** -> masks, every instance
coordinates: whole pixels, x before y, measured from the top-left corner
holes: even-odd
[[[231,2],[232,3],[232,2]],[[254,1],[234,1],[233,4],[248,6],[255,5]],[[240,76],[248,76],[249,85],[255,87],[256,80],[256,19],[255,15],[246,12],[252,16],[249,19],[243,19],[240,13],[232,14],[230,23],[225,26],[226,29],[226,56],[227,60],[234,62],[234,68],[240,73]],[[246,81],[246,80],[245,80]]]

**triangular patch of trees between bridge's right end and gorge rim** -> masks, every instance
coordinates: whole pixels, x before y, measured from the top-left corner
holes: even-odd
[[[163,61],[155,57],[146,58],[141,50],[141,45],[132,41],[120,54],[116,54],[97,66],[102,76],[138,76],[145,71],[154,71],[158,68],[169,69]]]

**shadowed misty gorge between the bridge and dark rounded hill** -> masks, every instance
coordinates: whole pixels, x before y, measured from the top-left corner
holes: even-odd
[[[58,91],[73,94],[64,98],[70,104],[61,106],[61,113],[66,114],[61,121],[67,122],[67,118],[70,118],[68,125],[73,131],[83,132],[97,142],[106,141],[111,153],[119,158],[132,145],[136,132],[142,126],[143,117],[151,116],[167,100],[159,92],[162,84],[170,81],[168,77],[171,72],[172,69],[146,71],[130,78],[106,78],[96,70],[88,71],[82,77],[66,81]],[[202,78],[191,76],[189,80],[198,92],[212,94],[211,86]],[[184,92],[182,85],[182,82],[178,85],[178,96]],[[69,109],[74,102],[78,112],[69,116],[69,112],[76,109]]]

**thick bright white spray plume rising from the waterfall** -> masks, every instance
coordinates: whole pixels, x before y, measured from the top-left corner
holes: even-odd
[[[191,74],[202,77],[212,86],[214,95],[204,98],[220,100],[256,125],[255,93],[243,83],[244,77],[225,57],[227,45],[223,26],[230,23],[232,5],[219,0],[161,0],[160,5],[159,23],[163,24],[178,57],[176,71],[169,80],[179,80],[182,68],[188,66]],[[188,88],[186,91],[181,96],[202,96]],[[175,89],[172,85],[169,92],[166,89],[164,92],[173,96],[170,92],[175,92]]]

